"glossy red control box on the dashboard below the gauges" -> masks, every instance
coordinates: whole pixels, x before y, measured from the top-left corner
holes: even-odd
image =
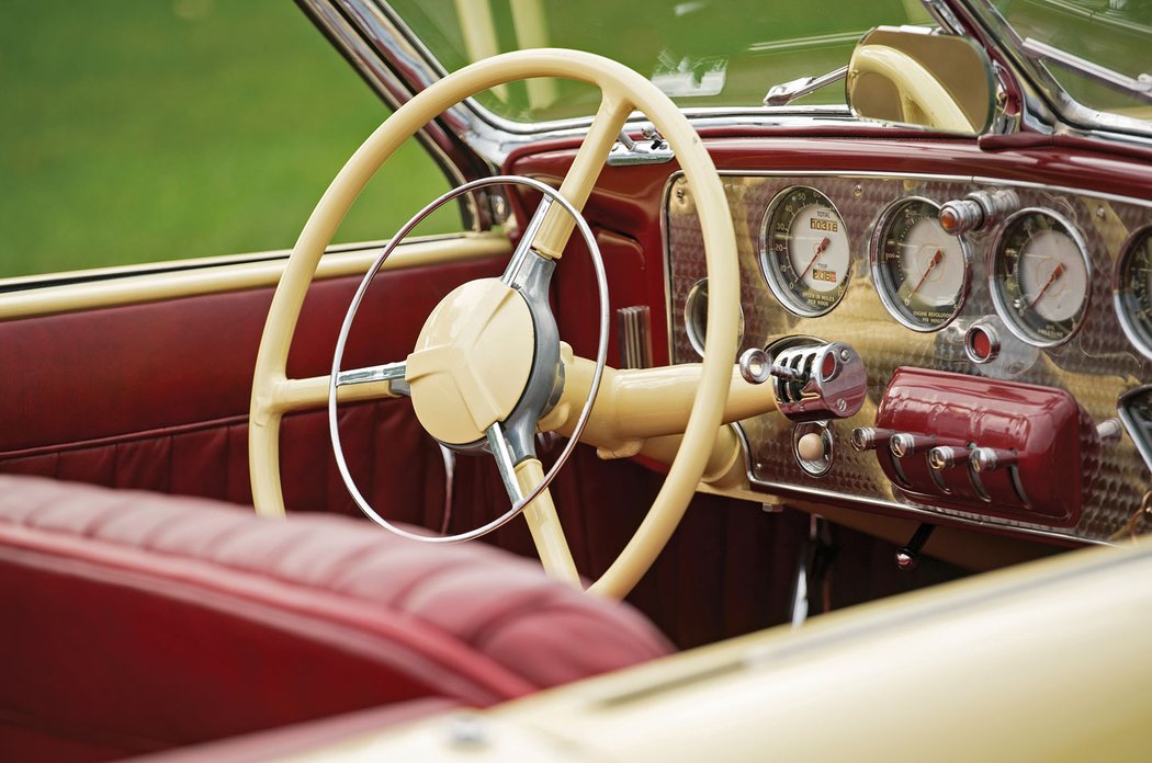
[[[925,368],[897,368],[876,426],[932,435],[937,444],[1014,452],[1015,465],[977,473],[933,472],[927,452],[896,459],[877,451],[885,474],[917,501],[1055,527],[1079,520],[1081,496],[1099,441],[1086,413],[1061,389]]]

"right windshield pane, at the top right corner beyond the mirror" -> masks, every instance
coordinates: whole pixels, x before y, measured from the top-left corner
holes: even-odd
[[[994,0],[993,5],[1016,32],[1020,49],[1043,66],[1075,105],[1152,121],[1152,0]],[[1089,70],[1093,64],[1102,70],[1093,74]],[[1105,121],[1085,112],[1070,113],[1061,106],[1074,105],[1056,96],[1058,109],[1073,121]]]

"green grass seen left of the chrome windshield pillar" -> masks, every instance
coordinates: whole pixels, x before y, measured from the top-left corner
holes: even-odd
[[[385,116],[290,0],[0,0],[0,277],[291,246]],[[338,241],[446,189],[412,143]]]

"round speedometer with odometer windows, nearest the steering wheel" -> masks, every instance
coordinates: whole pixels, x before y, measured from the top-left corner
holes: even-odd
[[[848,231],[828,197],[794,185],[764,214],[760,269],[768,288],[797,315],[823,315],[848,289]]]

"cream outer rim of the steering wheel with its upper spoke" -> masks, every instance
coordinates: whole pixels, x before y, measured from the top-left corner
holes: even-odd
[[[650,81],[592,53],[559,48],[516,51],[464,67],[396,109],[332,181],[293,249],[260,339],[249,415],[252,498],[260,514],[285,513],[279,460],[280,420],[289,411],[321,406],[326,402],[329,380],[288,379],[288,349],[320,255],[356,197],[400,145],[437,115],[480,91],[531,77],[578,79],[596,85],[601,92],[597,116],[560,188],[560,193],[577,209],[586,203],[627,119],[638,109],[672,146],[696,203],[703,232],[712,298],[707,308],[700,383],[688,426],[664,486],[639,528],[607,572],[589,589],[620,597],[635,586],[667,543],[707,465],[728,396],[740,289],[732,219],[719,175],[699,136],[672,100]],[[573,224],[567,215],[546,219],[535,239],[538,251],[559,258]]]

